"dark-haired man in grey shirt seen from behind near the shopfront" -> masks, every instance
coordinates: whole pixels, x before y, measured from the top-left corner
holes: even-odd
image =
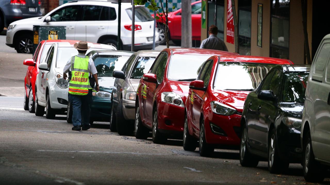
[[[199,48],[228,51],[225,42],[216,37],[217,34],[218,28],[215,25],[211,25],[209,27],[209,38],[203,40]]]

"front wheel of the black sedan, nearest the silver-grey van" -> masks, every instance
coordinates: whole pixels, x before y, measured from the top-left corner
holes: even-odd
[[[268,171],[270,173],[280,173],[288,168],[289,163],[280,158],[276,130],[273,128],[268,137]]]

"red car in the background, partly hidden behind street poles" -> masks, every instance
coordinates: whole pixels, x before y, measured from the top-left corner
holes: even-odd
[[[168,13],[168,28],[170,39],[180,45],[181,42],[181,9]],[[192,40],[201,40],[201,18],[202,18],[202,1],[191,3],[191,35]],[[159,33],[159,43],[165,44],[165,16],[157,20],[157,31]]]

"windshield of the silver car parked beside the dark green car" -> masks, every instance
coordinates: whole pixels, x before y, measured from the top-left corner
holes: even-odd
[[[133,67],[133,72],[131,75],[132,79],[140,79],[143,74],[147,73],[155,61],[156,57],[139,57],[138,61]]]

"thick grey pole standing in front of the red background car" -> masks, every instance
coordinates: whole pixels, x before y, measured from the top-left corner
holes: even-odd
[[[181,2],[181,47],[192,47],[191,37],[191,0]]]

